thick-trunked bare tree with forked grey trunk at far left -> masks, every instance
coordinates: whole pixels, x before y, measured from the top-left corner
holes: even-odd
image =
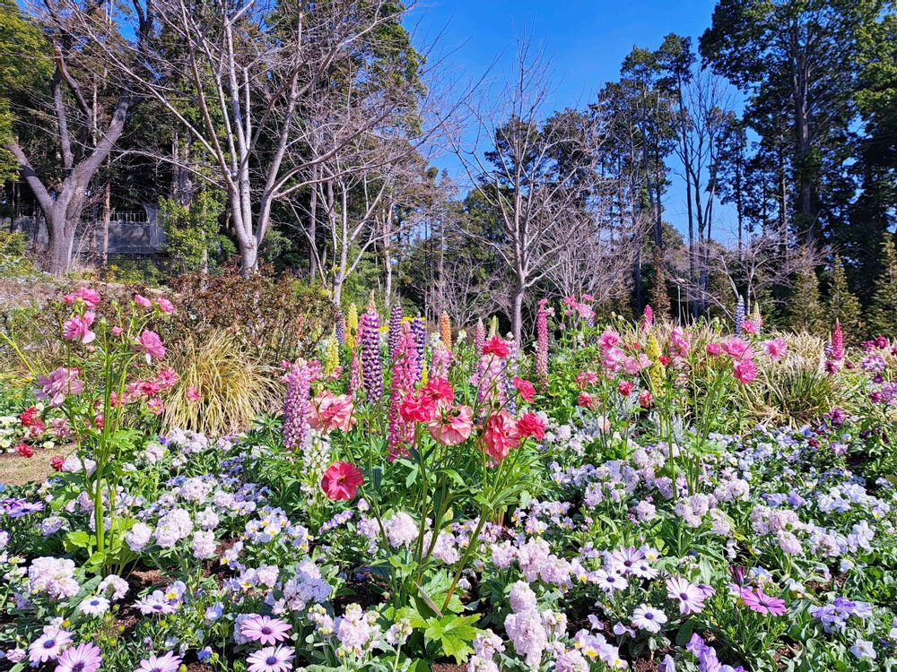
[[[126,82],[107,76],[104,55],[125,60],[149,34],[153,17],[140,13],[135,26],[123,28],[127,17],[115,15],[104,0],[45,0],[29,12],[49,42],[52,74],[47,98],[31,92],[35,108],[13,112],[20,121],[30,118],[30,132],[41,140],[49,135],[57,150],[49,152],[52,167],[41,171],[21,134],[6,138],[3,146],[17,161],[47,222],[47,269],[61,275],[71,267],[91,182],[137,102]]]

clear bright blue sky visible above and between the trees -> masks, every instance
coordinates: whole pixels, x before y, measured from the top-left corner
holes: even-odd
[[[544,48],[551,60],[551,107],[583,107],[605,82],[619,76],[632,47],[657,48],[668,33],[692,37],[710,25],[715,0],[422,0],[409,25],[424,40],[439,36],[439,52],[450,72],[476,80],[489,70],[497,90],[513,73],[515,42],[521,34]],[[441,33],[441,34],[440,34]],[[490,69],[491,66],[491,69]],[[437,161],[460,177],[457,159]],[[684,185],[673,177],[666,196],[666,220],[683,230]],[[720,208],[719,234],[734,216]]]

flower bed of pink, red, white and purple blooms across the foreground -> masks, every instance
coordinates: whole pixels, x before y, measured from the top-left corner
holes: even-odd
[[[897,664],[887,341],[594,328],[586,298],[540,306],[529,356],[369,307],[287,366],[283,418],[157,437],[169,306],[99,302],[38,378],[74,451],[2,494],[0,668]],[[807,357],[838,396],[758,424]]]

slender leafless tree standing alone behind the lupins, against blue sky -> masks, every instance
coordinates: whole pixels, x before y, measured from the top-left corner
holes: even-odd
[[[552,124],[544,119],[548,93],[542,54],[519,40],[517,74],[504,105],[492,114],[473,110],[479,137],[492,147],[481,155],[478,147],[461,151],[457,143],[476,190],[498,213],[500,235],[467,234],[491,247],[513,275],[509,313],[518,342],[527,289],[551,271],[568,244],[562,231],[571,211],[588,207],[597,164],[597,116],[568,110]]]

